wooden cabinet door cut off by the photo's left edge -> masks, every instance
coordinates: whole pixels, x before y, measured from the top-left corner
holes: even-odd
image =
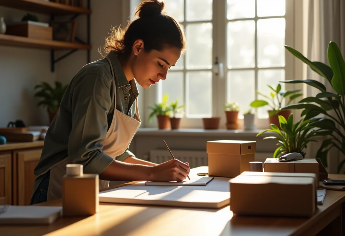
[[[11,153],[0,153],[0,205],[12,204]]]

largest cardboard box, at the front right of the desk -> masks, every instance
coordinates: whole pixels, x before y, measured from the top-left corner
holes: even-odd
[[[239,215],[311,217],[317,209],[313,173],[243,172],[230,179],[230,210]]]

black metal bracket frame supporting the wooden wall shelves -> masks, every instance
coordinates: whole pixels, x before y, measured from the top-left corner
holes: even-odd
[[[90,10],[90,0],[87,0],[87,9]],[[79,14],[74,14],[70,20],[74,20],[79,16]],[[54,20],[54,16],[50,16],[51,20]],[[81,40],[78,37],[75,37],[75,41],[82,43],[82,44],[90,44],[90,14],[87,14],[87,18],[86,18],[86,31],[87,31],[87,42],[84,42],[83,40]],[[78,49],[73,49],[67,53],[65,53],[64,55],[62,55],[61,57],[55,59],[55,50],[51,49],[50,50],[50,70],[51,72],[55,71],[55,63],[57,63],[58,61],[68,57],[69,55],[71,55],[72,53],[78,51]],[[87,49],[87,63],[90,63],[90,49]]]

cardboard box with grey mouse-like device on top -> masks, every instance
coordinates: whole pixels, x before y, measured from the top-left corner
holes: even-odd
[[[265,172],[315,173],[316,187],[319,186],[319,163],[315,159],[280,162],[278,158],[267,158],[264,169]]]

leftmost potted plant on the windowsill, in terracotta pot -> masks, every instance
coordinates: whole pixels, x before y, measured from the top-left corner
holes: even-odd
[[[167,104],[168,95],[165,94],[162,98],[162,102],[156,103],[153,107],[148,107],[152,110],[149,115],[149,122],[151,122],[154,116],[157,116],[158,128],[159,129],[168,129],[170,120],[169,120],[169,111],[170,107]]]

